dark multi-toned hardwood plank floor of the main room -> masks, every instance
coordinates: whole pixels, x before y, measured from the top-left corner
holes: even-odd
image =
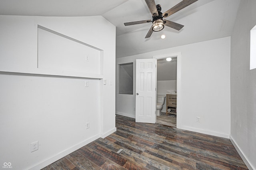
[[[117,131],[43,170],[245,170],[229,139],[116,115]]]

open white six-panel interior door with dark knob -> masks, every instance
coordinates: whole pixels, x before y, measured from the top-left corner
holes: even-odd
[[[156,59],[136,59],[135,121],[156,123]]]

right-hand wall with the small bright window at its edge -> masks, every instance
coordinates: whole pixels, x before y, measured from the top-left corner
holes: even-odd
[[[256,1],[241,1],[231,37],[231,139],[256,170],[256,69],[250,70],[250,30]],[[255,47],[254,47],[255,48]],[[246,161],[247,159],[247,161]]]

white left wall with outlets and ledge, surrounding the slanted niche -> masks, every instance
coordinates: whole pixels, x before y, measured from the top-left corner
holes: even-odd
[[[0,24],[0,164],[41,169],[116,130],[116,30],[110,22],[101,16],[0,16]],[[102,49],[95,63],[102,72],[37,68],[38,25]],[[37,140],[39,149],[30,153]]]

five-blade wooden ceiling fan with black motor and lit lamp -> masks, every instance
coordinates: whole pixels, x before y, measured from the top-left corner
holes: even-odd
[[[158,4],[156,5],[154,0],[145,0],[146,4],[148,5],[148,9],[150,10],[152,14],[152,20],[143,20],[143,21],[135,21],[135,22],[126,22],[124,23],[125,26],[131,26],[135,24],[144,24],[148,22],[152,22],[152,26],[150,30],[148,31],[148,34],[146,35],[145,38],[150,38],[152,35],[153,31],[161,31],[164,26],[168,26],[170,28],[173,28],[175,30],[180,30],[184,26],[181,24],[178,24],[176,22],[172,22],[169,20],[163,20],[163,18],[166,18],[175,12],[178,12],[179,10],[182,10],[183,8],[189,6],[190,4],[193,4],[194,2],[198,0],[182,0],[180,3],[178,3],[176,6],[172,7],[168,11],[164,12],[164,14],[161,12],[162,8]]]

